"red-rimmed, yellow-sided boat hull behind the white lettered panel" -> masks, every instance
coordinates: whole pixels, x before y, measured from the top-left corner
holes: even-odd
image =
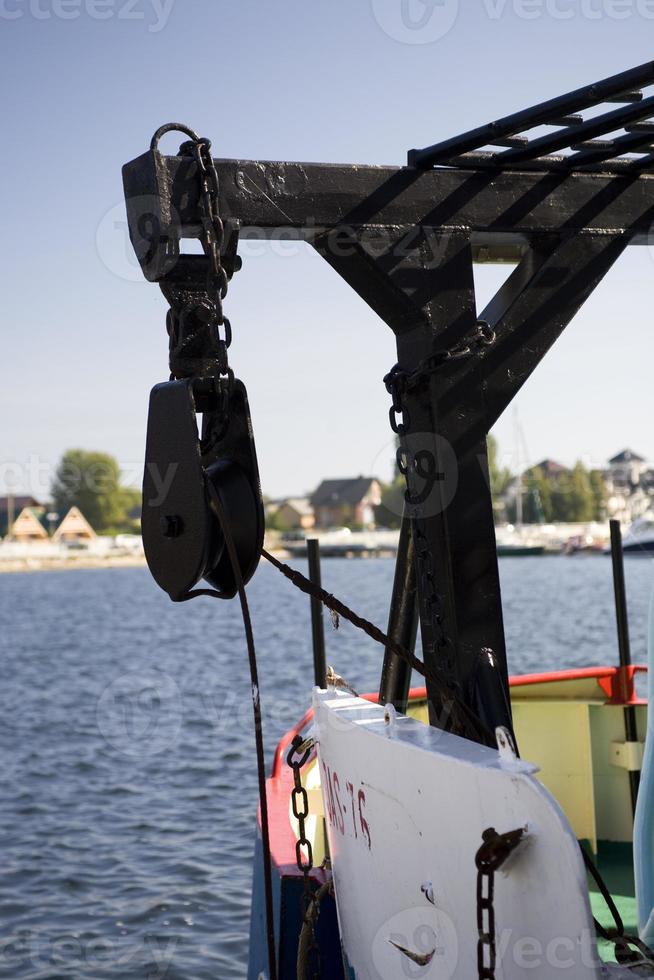
[[[646,704],[638,698],[635,690],[635,675],[644,669],[640,666],[628,669],[586,668],[511,679],[514,720],[519,743],[524,745],[524,754],[537,758],[537,761],[542,764],[539,778],[559,799],[572,825],[573,837],[586,841],[587,846],[595,851],[627,929],[632,931],[635,929],[635,900],[631,860],[629,773],[625,768],[610,764],[608,756],[613,743],[619,744],[624,740],[623,715],[626,705],[635,708],[639,731],[644,735]],[[366,695],[366,699],[373,702],[377,700],[374,695]],[[409,711],[414,717],[426,723],[427,705],[424,688],[414,689],[411,692]],[[302,876],[295,864],[297,825],[294,825],[290,813],[292,774],[286,765],[285,757],[294,735],[307,732],[312,722],[313,712],[310,710],[282,739],[275,756],[272,776],[268,781],[280,980],[291,980],[297,976],[296,956],[301,928],[299,907],[302,895]],[[420,725],[419,728],[429,732],[426,725]],[[439,736],[442,733],[436,734]],[[574,751],[571,748],[572,744],[575,747]],[[347,751],[349,760],[349,749]],[[565,766],[561,765],[562,759],[565,759]],[[599,770],[593,769],[593,763],[595,770],[599,765]],[[321,775],[317,760],[315,758],[310,760],[303,771],[303,781],[308,788],[311,812],[317,814],[320,810],[318,820],[313,827],[316,864],[323,861],[326,853],[322,829],[323,813],[326,824],[329,824],[330,804],[328,797],[325,799],[324,807],[322,804]],[[349,777],[344,781],[352,782]],[[422,771],[416,775],[415,781],[419,785],[424,782]],[[342,782],[343,780],[339,778],[341,790]],[[347,794],[345,802],[348,803],[347,786],[344,792]],[[451,794],[448,794],[445,799],[447,801],[450,798]],[[341,807],[343,802],[341,799]],[[442,803],[441,798],[439,805],[442,806]],[[438,808],[436,803],[434,807]],[[340,814],[338,804],[336,810]],[[601,813],[599,822],[596,811]],[[363,816],[366,818],[365,806]],[[340,822],[339,816],[337,819]],[[357,825],[357,832],[360,830],[360,825]],[[389,853],[392,853],[392,848],[389,849]],[[261,872],[261,852],[258,847],[248,973],[251,980],[258,980],[260,972],[266,975]],[[401,874],[403,871],[398,877],[401,877]],[[312,872],[311,879],[313,888],[317,889],[326,880],[325,872],[318,868]],[[591,890],[590,898],[595,915],[605,924],[610,924],[607,922],[606,908],[601,896]],[[341,977],[351,980],[355,975],[350,972],[353,964],[350,962],[344,966],[340,959],[341,929],[337,921],[334,900],[329,896],[321,906],[317,938],[325,963],[324,976],[334,977],[335,980],[340,980]],[[603,955],[611,952],[608,948],[601,951]],[[408,968],[416,971],[416,976],[432,975],[411,964],[408,964]],[[531,976],[540,980],[541,974],[538,971],[529,972]],[[359,976],[358,973],[356,975]],[[372,975],[375,976],[375,980],[378,980],[379,974]],[[400,972],[396,975],[404,976],[405,973]],[[560,971],[558,975],[561,975]],[[564,971],[565,975],[570,975],[570,971],[567,973]],[[441,974],[434,973],[433,976],[440,977]],[[476,973],[472,976],[476,976]],[[584,974],[582,973],[581,976]]]

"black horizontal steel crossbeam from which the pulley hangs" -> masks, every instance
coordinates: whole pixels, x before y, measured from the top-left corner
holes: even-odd
[[[199,230],[192,166],[182,157],[150,151],[123,168],[137,254],[144,239],[193,237]],[[338,229],[341,251],[364,228],[385,227],[409,238],[416,226],[439,233],[465,228],[473,243],[489,246],[561,232],[621,231],[644,243],[654,222],[650,176],[238,160],[217,160],[216,166],[221,213],[240,223],[242,236],[275,238],[296,229],[298,237],[313,242],[325,229]]]

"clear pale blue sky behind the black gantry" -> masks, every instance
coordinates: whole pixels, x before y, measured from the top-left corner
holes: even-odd
[[[140,470],[166,306],[130,258],[120,171],[161,123],[220,156],[401,164],[654,56],[652,0],[406,2],[415,29],[400,0],[0,0],[3,477],[43,493],[73,446]],[[264,492],[387,478],[390,331],[305,246],[256,252],[227,309]],[[479,308],[501,276],[480,270]],[[629,250],[518,396],[532,462],[654,458],[653,289]],[[510,414],[496,434],[510,454]]]

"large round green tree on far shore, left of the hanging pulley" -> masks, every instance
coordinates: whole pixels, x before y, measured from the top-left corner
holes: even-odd
[[[140,495],[120,485],[120,467],[108,453],[69,449],[62,456],[52,482],[55,509],[63,517],[79,507],[96,531],[131,527],[130,511]]]

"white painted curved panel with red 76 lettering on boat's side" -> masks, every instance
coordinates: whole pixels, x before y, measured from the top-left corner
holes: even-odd
[[[495,877],[497,980],[633,976],[600,964],[579,847],[534,766],[342,693],[316,691],[314,708],[351,976],[478,976],[489,827],[528,835]]]

